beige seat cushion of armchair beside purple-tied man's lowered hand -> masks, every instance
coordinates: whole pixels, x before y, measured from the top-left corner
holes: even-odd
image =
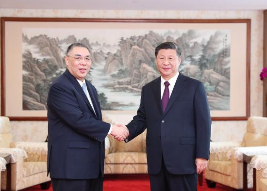
[[[209,161],[209,169],[223,175],[231,175],[231,161]]]

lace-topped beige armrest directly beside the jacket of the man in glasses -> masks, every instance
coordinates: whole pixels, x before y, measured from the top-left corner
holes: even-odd
[[[44,142],[16,142],[12,143],[11,147],[23,149],[28,158],[25,161],[47,161],[47,143]]]

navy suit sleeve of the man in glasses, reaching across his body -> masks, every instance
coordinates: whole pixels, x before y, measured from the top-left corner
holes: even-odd
[[[107,136],[110,124],[95,119],[89,112],[82,111],[75,94],[66,85],[55,83],[50,87],[47,105],[55,114],[49,112],[48,117],[51,119],[60,118],[75,131],[99,142],[103,142]]]

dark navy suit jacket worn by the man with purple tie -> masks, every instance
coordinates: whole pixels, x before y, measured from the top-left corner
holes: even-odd
[[[211,118],[204,86],[180,73],[163,113],[160,83],[157,78],[142,88],[137,115],[127,125],[128,141],[147,128],[151,175],[160,172],[162,156],[169,173],[196,173],[195,159],[209,159]]]

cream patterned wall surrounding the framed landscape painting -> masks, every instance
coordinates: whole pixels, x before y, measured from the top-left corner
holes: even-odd
[[[0,9],[0,16],[11,17],[83,17],[83,18],[173,18],[173,19],[251,19],[250,57],[250,115],[262,116],[262,81],[259,74],[263,67],[263,11],[91,11],[91,10],[33,10]],[[238,77],[236,77],[238,78]],[[114,123],[125,124],[133,114],[103,113]],[[46,121],[12,121],[15,141],[43,141],[47,136]],[[241,141],[246,121],[214,121],[212,140]]]

